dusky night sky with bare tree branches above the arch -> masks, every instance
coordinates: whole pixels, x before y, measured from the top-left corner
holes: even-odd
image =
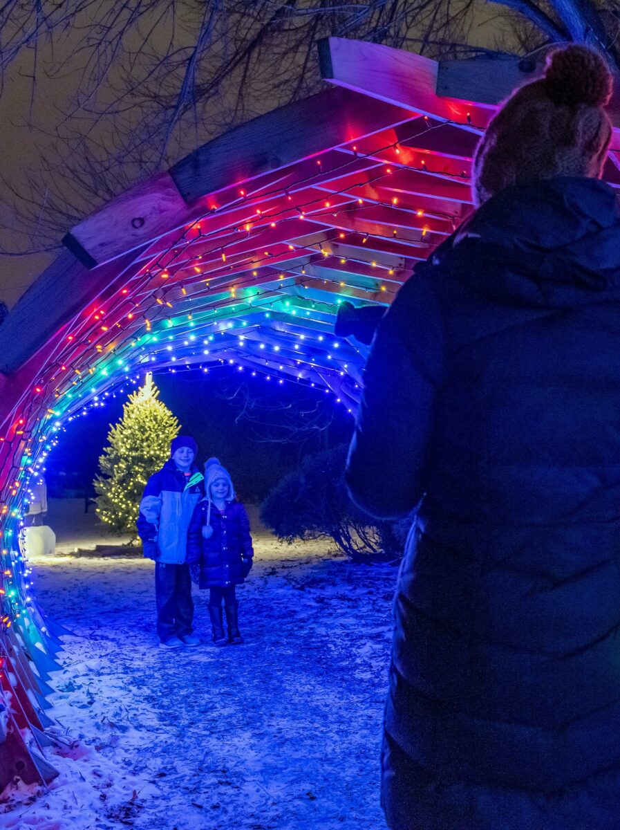
[[[130,183],[319,89],[321,37],[436,58],[584,41],[618,70],[619,33],[617,0],[9,0],[0,7],[3,298],[14,302],[41,252]],[[24,252],[39,258],[9,256]]]

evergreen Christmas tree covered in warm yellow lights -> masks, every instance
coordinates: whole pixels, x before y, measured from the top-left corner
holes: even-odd
[[[101,475],[93,482],[97,515],[119,535],[135,534],[144,486],[167,461],[170,442],[181,428],[158,397],[159,389],[148,374],[144,386],[129,395],[123,417],[110,427],[108,444],[99,457]]]

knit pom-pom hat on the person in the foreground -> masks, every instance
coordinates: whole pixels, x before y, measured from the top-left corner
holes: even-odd
[[[512,184],[541,178],[600,178],[612,137],[603,107],[612,76],[587,46],[551,53],[545,76],[504,102],[482,136],[473,161],[476,205]]]

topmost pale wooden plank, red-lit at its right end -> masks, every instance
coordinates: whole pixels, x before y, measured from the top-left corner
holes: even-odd
[[[427,57],[343,37],[327,37],[319,41],[318,49],[321,76],[332,84],[476,133],[487,127],[492,116],[487,106],[438,95],[438,63]]]

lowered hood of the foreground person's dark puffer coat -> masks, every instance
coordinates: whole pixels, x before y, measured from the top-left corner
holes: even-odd
[[[439,266],[502,303],[567,308],[620,297],[620,212],[613,188],[554,178],[483,204],[416,274]]]

